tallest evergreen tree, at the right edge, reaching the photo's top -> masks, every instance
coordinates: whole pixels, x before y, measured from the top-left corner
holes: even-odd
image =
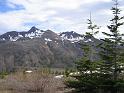
[[[124,22],[121,22],[124,17],[119,16],[121,10],[118,8],[118,0],[113,1],[115,6],[111,10],[114,17],[110,20],[111,25],[107,26],[110,32],[102,32],[106,38],[102,39],[102,51],[100,52],[103,60],[101,77],[104,79],[101,86],[104,86],[104,90],[108,89],[111,93],[117,93],[117,83],[119,83],[119,80],[123,81],[120,78],[120,74],[124,70],[124,60],[122,59],[124,51],[121,48],[121,45],[123,45],[123,34],[120,34],[119,27],[124,24]]]

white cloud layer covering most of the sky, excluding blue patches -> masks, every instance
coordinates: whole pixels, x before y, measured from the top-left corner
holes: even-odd
[[[87,31],[87,14],[91,10],[83,11],[86,9],[84,6],[92,6],[92,4],[95,5],[104,2],[110,3],[111,1],[112,0],[7,0],[9,7],[14,9],[19,5],[22,6],[23,9],[0,13],[0,29],[5,29],[6,31],[25,30],[29,29],[29,26],[25,26],[26,23],[36,23],[38,27],[41,26],[45,29],[53,29],[54,31],[60,27],[59,31],[74,30],[79,33],[84,33]],[[64,12],[61,12],[61,10]],[[78,12],[79,10],[81,11]],[[77,13],[77,16],[73,16],[75,14],[72,13],[72,11]],[[68,13],[68,15],[66,13]],[[110,16],[110,14],[110,10],[106,9],[97,13],[95,12],[96,17],[98,17],[98,15]],[[80,17],[83,17],[84,20],[80,20]],[[103,24],[104,20],[101,20],[102,21],[98,22],[98,24]]]

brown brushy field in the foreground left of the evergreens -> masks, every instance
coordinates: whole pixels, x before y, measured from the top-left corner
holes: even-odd
[[[57,75],[55,73],[39,70],[8,74],[0,79],[0,93],[64,93],[63,79],[54,78]]]

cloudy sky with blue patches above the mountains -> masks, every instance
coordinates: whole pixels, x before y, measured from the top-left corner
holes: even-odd
[[[0,0],[0,34],[28,31],[32,26],[57,33],[84,34],[90,12],[94,24],[101,26],[100,31],[108,31],[113,4],[112,0]],[[119,7],[124,16],[123,0],[119,0]]]

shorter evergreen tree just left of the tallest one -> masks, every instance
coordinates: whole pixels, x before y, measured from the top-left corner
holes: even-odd
[[[87,32],[85,37],[89,37],[91,39],[95,34],[98,33],[95,30],[98,30],[97,25],[93,25],[91,17],[88,19],[88,29],[91,32]],[[76,62],[77,72],[78,74],[69,77],[70,80],[66,82],[66,85],[70,88],[75,88],[75,91],[78,93],[93,93],[93,91],[97,88],[97,62],[92,60],[92,55],[94,51],[92,49],[92,44],[81,44],[82,50],[84,52],[83,57]]]

